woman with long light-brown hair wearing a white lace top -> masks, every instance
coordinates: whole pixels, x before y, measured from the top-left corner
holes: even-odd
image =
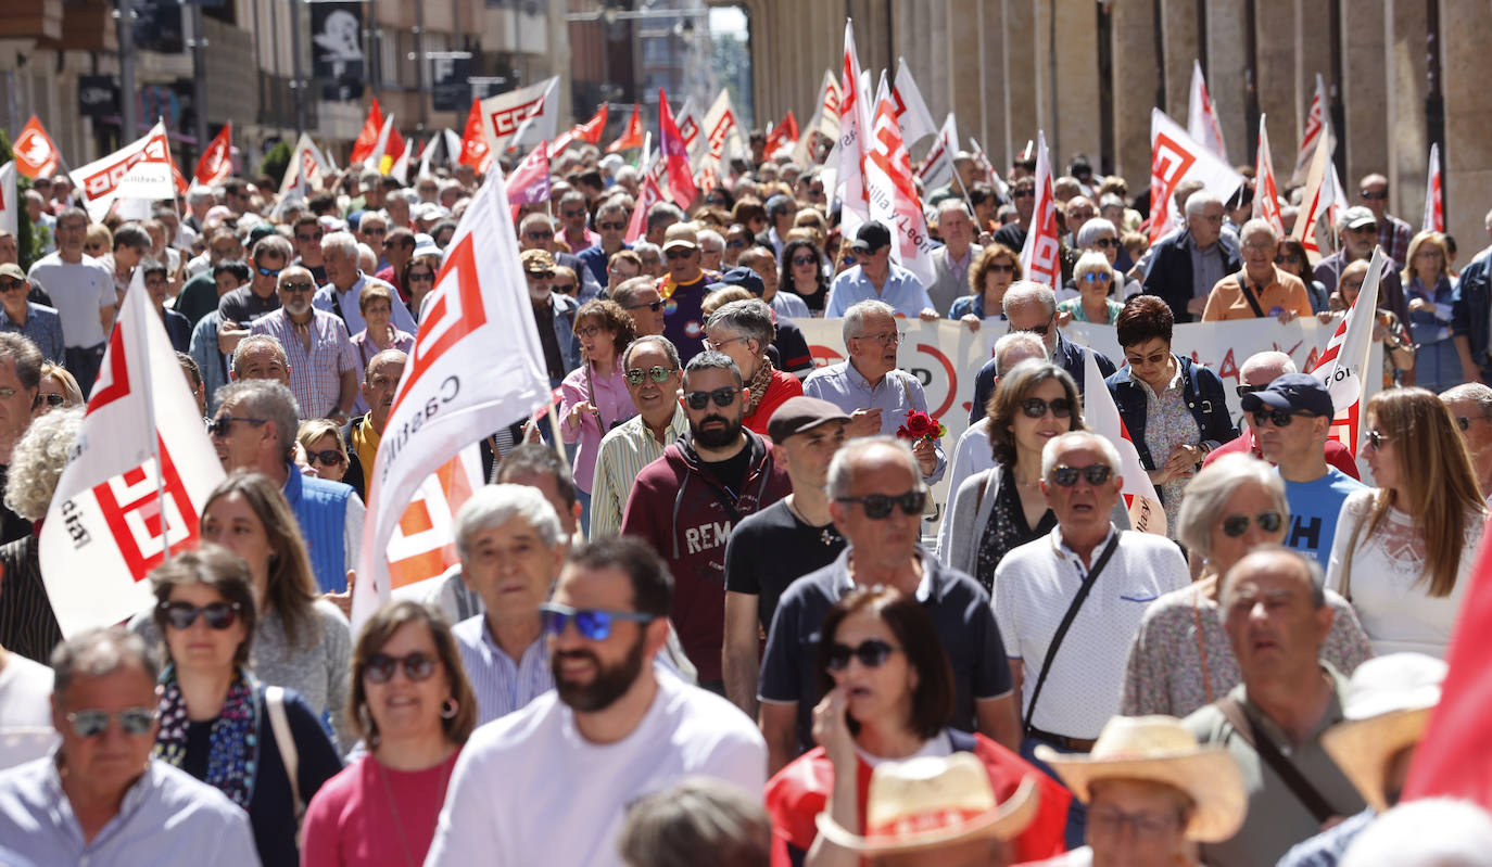
[[[1326,587],[1358,611],[1376,654],[1444,658],[1486,523],[1465,441],[1446,404],[1416,387],[1374,395],[1364,429],[1379,487],[1341,504]]]

